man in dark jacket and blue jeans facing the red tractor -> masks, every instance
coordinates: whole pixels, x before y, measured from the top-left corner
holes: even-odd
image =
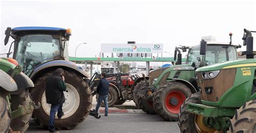
[[[97,86],[97,93],[99,97],[97,99],[96,113],[98,113],[100,103],[104,100],[105,104],[105,116],[109,114],[109,104],[107,103],[107,96],[109,94],[109,81],[106,80],[106,73],[102,73],[100,76],[99,84]]]

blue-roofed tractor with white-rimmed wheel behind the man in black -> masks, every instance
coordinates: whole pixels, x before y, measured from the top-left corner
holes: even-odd
[[[5,43],[10,36],[8,57],[14,44],[13,56],[22,66],[35,87],[29,92],[32,100],[41,107],[33,112],[33,118],[41,127],[48,128],[50,105],[45,98],[45,80],[57,68],[64,70],[66,92],[63,104],[64,115],[55,121],[58,130],[75,128],[89,115],[92,106],[91,89],[87,84],[89,75],[69,61],[68,43],[71,29],[57,27],[8,27],[5,30]]]

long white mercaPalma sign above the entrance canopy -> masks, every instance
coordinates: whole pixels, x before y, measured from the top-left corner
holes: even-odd
[[[161,43],[124,44],[124,43],[102,43],[102,53],[163,53]]]

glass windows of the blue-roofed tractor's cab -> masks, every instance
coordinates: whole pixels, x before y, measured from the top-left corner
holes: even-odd
[[[37,65],[60,57],[58,36],[46,34],[24,35],[16,43],[14,58],[28,74]]]

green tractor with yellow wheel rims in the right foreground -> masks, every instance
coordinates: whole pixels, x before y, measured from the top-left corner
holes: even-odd
[[[181,106],[180,132],[256,132],[256,53],[251,31],[244,29],[242,40],[246,51],[239,55],[246,55],[246,60],[196,70],[200,92]],[[201,45],[201,55],[205,55],[205,47],[206,43]]]

